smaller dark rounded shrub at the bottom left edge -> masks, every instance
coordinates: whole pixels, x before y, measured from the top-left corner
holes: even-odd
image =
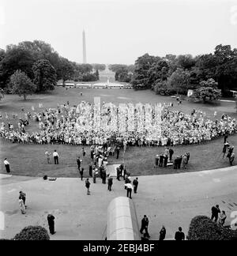
[[[50,240],[50,236],[43,227],[28,226],[15,235],[14,240]]]

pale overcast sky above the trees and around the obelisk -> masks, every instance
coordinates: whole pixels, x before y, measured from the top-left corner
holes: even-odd
[[[237,47],[237,1],[0,0],[0,47],[24,40],[51,43],[82,62],[132,64],[150,55],[198,55],[217,44]]]

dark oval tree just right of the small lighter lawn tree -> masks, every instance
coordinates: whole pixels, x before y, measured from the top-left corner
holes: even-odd
[[[36,92],[53,90],[57,84],[55,68],[47,59],[40,59],[35,62],[32,68],[35,79],[34,84],[37,86]]]

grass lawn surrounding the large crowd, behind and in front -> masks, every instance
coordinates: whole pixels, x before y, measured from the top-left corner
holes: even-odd
[[[81,93],[83,92],[83,96]],[[29,96],[27,100],[21,99],[19,96],[6,95],[5,99],[0,103],[0,112],[2,114],[1,122],[13,122],[17,126],[16,119],[12,118],[12,113],[17,113],[18,117],[22,116],[24,111],[31,111],[32,106],[36,111],[40,111],[39,104],[43,104],[43,108],[57,107],[57,104],[65,104],[67,100],[70,105],[78,104],[81,100],[93,102],[94,96],[100,96],[101,102],[119,103],[164,103],[173,102],[174,110],[180,110],[185,113],[190,113],[192,109],[196,108],[205,111],[210,119],[213,119],[214,111],[217,111],[217,118],[219,119],[223,113],[231,115],[236,118],[235,104],[221,102],[218,104],[193,104],[188,101],[177,106],[175,99],[166,96],[156,96],[151,91],[134,92],[130,89],[79,89],[79,88],[55,88],[55,91]],[[9,119],[5,119],[5,113],[8,113]],[[38,123],[31,121],[27,131],[38,130]],[[236,145],[237,135],[228,138],[232,145]],[[0,159],[5,157],[9,159],[12,173],[14,175],[50,175],[57,177],[77,177],[77,155],[81,156],[81,147],[72,145],[19,145],[12,144],[9,141],[0,140],[1,150]],[[164,173],[174,173],[179,171],[201,171],[213,168],[228,167],[228,160],[223,160],[221,151],[223,147],[223,138],[211,141],[204,145],[188,145],[175,147],[175,155],[184,152],[190,152],[190,163],[186,170],[174,170],[173,168],[153,168],[154,157],[156,153],[164,152],[164,148],[138,148],[128,147],[124,156],[124,163],[131,171],[132,175],[155,175]],[[53,152],[57,149],[60,160],[59,165],[47,164],[44,152],[49,150]],[[83,159],[82,166],[85,168],[85,174],[88,174],[89,149],[85,149],[87,154]],[[81,156],[82,157],[82,156]],[[119,161],[115,156],[110,156],[109,164],[120,164],[122,162],[122,155]],[[234,162],[235,164],[235,162]],[[1,164],[1,173],[5,173],[4,165]]]

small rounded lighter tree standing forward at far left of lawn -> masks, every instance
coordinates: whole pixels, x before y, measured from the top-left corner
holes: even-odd
[[[26,100],[26,96],[36,92],[36,85],[34,85],[26,73],[21,70],[17,70],[11,75],[9,88],[13,94],[24,96],[24,100]]]

